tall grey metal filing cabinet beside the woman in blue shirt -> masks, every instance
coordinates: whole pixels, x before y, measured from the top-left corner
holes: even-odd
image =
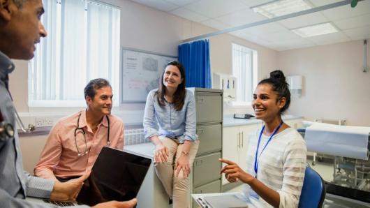
[[[220,89],[188,88],[195,96],[198,154],[193,163],[192,193],[221,192],[223,94]],[[193,202],[193,207],[196,203]]]

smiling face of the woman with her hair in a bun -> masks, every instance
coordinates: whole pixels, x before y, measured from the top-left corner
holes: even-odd
[[[258,84],[253,94],[252,107],[256,119],[268,122],[280,117],[280,110],[286,104],[286,98],[279,98],[270,84]]]

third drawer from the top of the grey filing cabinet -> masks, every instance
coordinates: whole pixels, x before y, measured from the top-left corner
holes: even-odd
[[[195,158],[193,163],[193,188],[221,178],[221,152]]]

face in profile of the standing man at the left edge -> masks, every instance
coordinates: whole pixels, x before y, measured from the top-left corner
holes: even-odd
[[[18,8],[13,1],[0,0],[1,43],[0,50],[12,59],[29,60],[34,57],[36,44],[46,31],[40,22],[44,13],[41,0],[26,1]]]

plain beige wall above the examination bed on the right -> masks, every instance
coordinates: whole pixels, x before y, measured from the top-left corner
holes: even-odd
[[[279,52],[277,60],[287,75],[304,77],[302,97],[293,99],[290,114],[370,126],[370,72],[362,72],[362,40]]]

